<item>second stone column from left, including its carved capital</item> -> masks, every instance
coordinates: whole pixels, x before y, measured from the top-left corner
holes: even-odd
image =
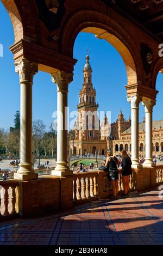
[[[52,74],[52,82],[57,84],[57,166],[52,171],[53,175],[68,176],[73,172],[68,167],[67,161],[67,96],[68,84],[72,82],[73,74],[58,71]]]

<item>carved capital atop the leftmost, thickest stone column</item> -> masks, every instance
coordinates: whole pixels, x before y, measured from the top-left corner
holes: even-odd
[[[20,76],[20,83],[32,83],[33,77],[38,72],[38,64],[27,59],[15,62],[15,72]]]

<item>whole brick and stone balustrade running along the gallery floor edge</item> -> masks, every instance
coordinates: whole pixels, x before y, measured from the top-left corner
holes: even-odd
[[[47,171],[47,170],[46,170]],[[111,183],[108,184],[108,172],[94,170],[74,173],[61,177],[45,175],[45,170],[38,170],[37,180],[0,181],[0,220],[16,215],[32,217],[47,212],[73,208],[74,205],[95,200],[109,199],[112,195]],[[47,173],[46,173],[47,174]],[[156,167],[133,168],[129,178],[130,192],[151,189],[163,184],[163,165]],[[119,193],[123,193],[122,174],[118,178]]]

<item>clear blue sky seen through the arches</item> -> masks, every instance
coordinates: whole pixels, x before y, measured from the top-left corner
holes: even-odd
[[[1,71],[1,112],[0,127],[8,129],[14,125],[14,114],[20,110],[20,85],[15,73],[13,55],[9,46],[14,44],[12,25],[0,2],[0,44],[4,47],[4,56],[0,57]],[[4,29],[5,28],[5,29]],[[126,68],[120,54],[108,42],[95,38],[95,35],[79,33],[74,44],[74,58],[78,59],[74,67],[73,82],[69,86],[68,105],[70,111],[76,111],[79,102],[79,90],[83,84],[83,67],[86,49],[89,47],[90,64],[92,67],[92,82],[96,88],[99,111],[111,111],[111,121],[117,119],[122,108],[124,118],[130,114],[130,104],[126,99],[127,84]],[[160,91],[154,107],[153,120],[163,119],[162,109],[163,75],[159,74],[156,89]],[[57,87],[51,81],[51,76],[39,71],[34,77],[33,85],[33,120],[42,119],[47,129],[54,118],[52,114],[57,110]],[[144,107],[140,104],[140,121],[144,117]]]

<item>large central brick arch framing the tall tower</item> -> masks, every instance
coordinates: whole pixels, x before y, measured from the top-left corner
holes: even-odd
[[[107,40],[120,53],[126,65],[128,84],[143,80],[143,68],[139,51],[129,34],[116,21],[104,14],[91,10],[80,10],[74,13],[66,22],[61,36],[61,53],[73,57],[74,41],[79,32],[105,31],[110,40]],[[95,34],[95,33],[94,33]],[[111,38],[112,36],[112,38]]]

